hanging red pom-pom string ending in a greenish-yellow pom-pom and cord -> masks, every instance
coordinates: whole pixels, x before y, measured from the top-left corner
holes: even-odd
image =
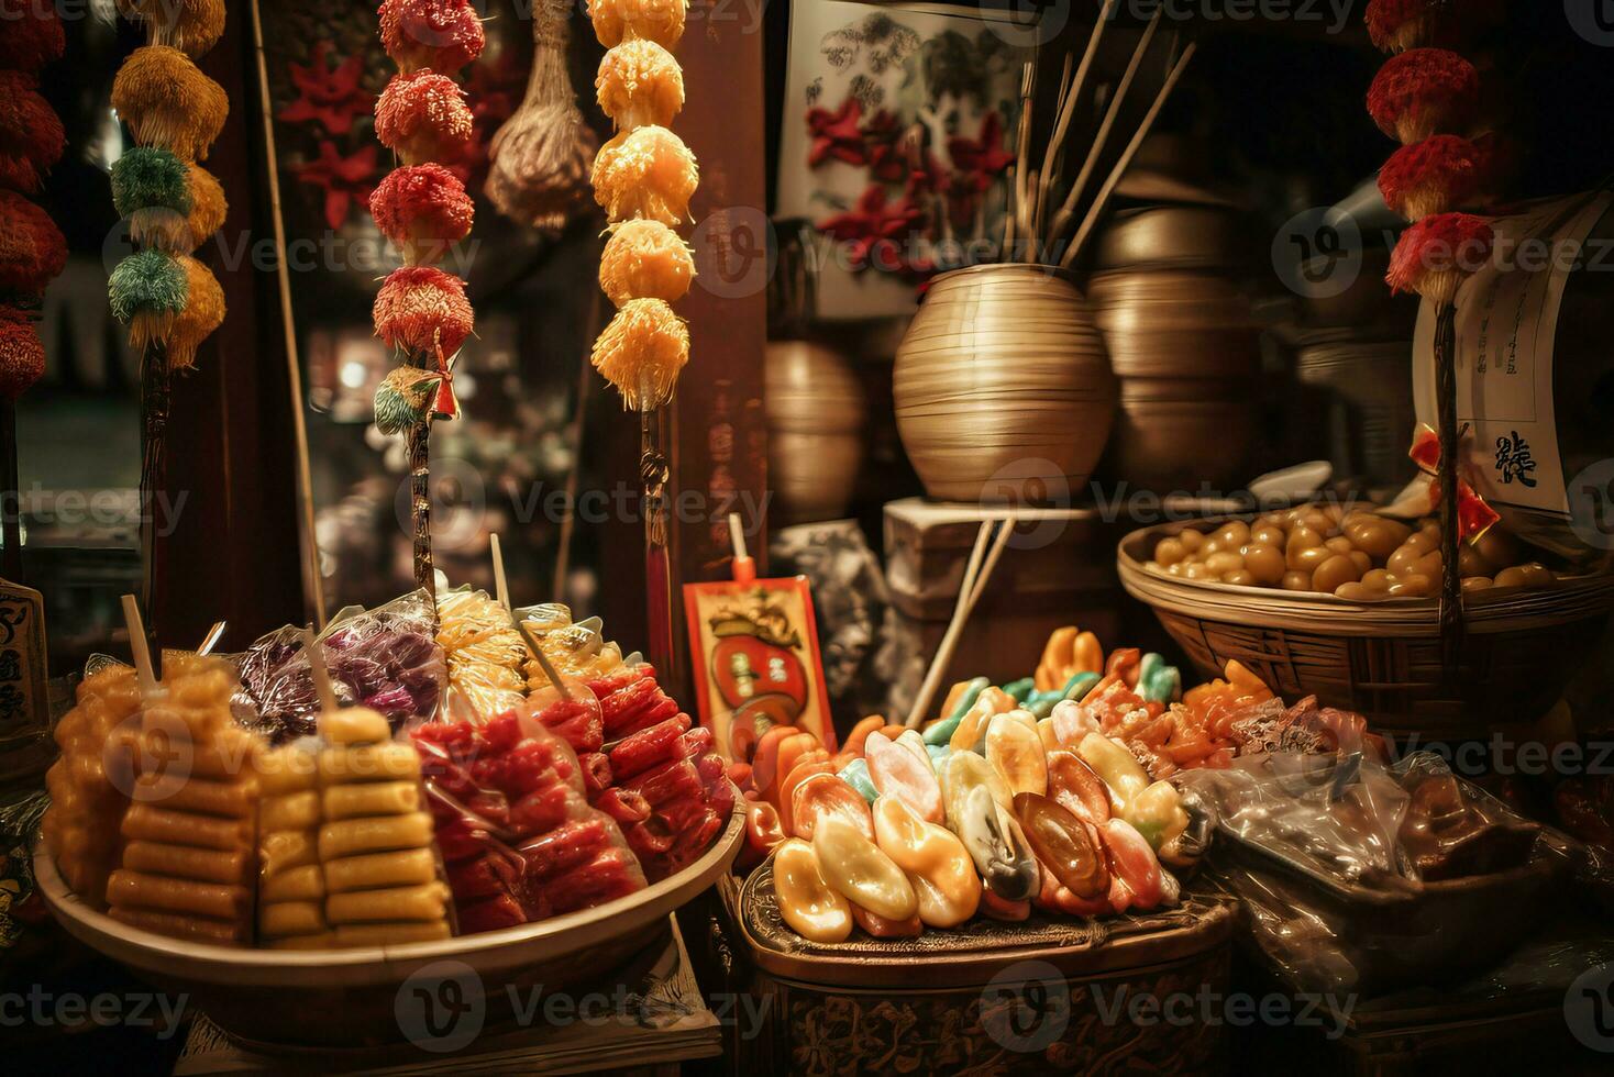
[[[436,593],[431,558],[429,439],[458,413],[452,371],[476,327],[465,281],[437,263],[471,234],[476,206],[442,161],[460,161],[476,135],[454,76],[486,45],[470,0],[383,0],[381,44],[399,73],[376,98],[376,137],[399,160],[370,197],[381,234],[404,264],[383,282],[376,335],[399,366],[376,389],[376,429],[408,439],[415,584]]]

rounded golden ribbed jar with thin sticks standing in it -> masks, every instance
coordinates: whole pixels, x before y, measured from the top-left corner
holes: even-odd
[[[909,459],[943,501],[1065,500],[1115,418],[1093,311],[1044,266],[936,277],[897,348],[893,395]]]

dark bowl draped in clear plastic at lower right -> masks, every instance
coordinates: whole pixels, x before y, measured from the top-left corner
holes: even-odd
[[[1241,900],[1246,940],[1302,992],[1483,971],[1572,864],[1561,835],[1432,753],[1383,766],[1361,746],[1265,751],[1173,780],[1217,819],[1210,877]]]

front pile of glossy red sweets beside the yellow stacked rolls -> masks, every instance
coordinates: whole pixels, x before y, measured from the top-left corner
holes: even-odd
[[[462,932],[604,904],[646,887],[571,748],[521,714],[413,732]],[[615,805],[615,801],[612,801]]]

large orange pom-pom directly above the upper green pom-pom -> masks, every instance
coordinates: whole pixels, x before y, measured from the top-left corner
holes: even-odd
[[[178,48],[145,45],[129,53],[118,69],[111,106],[140,145],[161,147],[186,161],[203,161],[224,129],[229,95]]]

